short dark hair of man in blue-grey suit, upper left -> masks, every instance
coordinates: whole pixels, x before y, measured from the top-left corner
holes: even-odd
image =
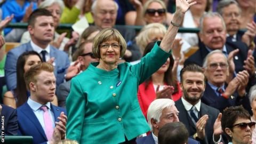
[[[36,18],[41,16],[53,17],[52,13],[46,9],[36,9],[28,17],[28,26],[34,26]]]

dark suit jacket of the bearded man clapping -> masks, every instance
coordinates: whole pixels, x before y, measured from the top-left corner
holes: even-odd
[[[180,122],[182,122],[183,124],[185,124],[185,126],[188,129],[188,134],[191,137],[192,135],[194,135],[196,133],[196,127],[194,125],[194,123],[192,122],[190,116],[188,115],[187,110],[185,109],[181,99],[179,99],[178,101],[175,101],[175,106],[177,107],[177,109],[179,110],[179,120]],[[217,119],[218,115],[219,115],[220,111],[218,109],[215,109],[213,107],[207,106],[204,103],[201,102],[201,107],[200,107],[200,111],[199,111],[199,118],[203,115],[208,115],[209,119],[207,120],[206,126],[205,126],[205,138],[203,141],[200,141],[201,143],[214,143],[212,136],[213,136],[213,124],[215,122],[215,120]]]

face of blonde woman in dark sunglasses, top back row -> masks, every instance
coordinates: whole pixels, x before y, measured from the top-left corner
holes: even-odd
[[[157,2],[152,2],[148,5],[145,21],[148,23],[164,23],[166,20],[166,10],[163,9],[163,6]]]

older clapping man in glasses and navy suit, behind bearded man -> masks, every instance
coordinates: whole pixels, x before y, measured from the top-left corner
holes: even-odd
[[[231,66],[228,63],[231,63]],[[238,105],[243,105],[246,110],[252,112],[249,97],[245,91],[249,82],[249,73],[246,70],[240,71],[226,84],[228,76],[233,76],[232,66],[234,66],[233,60],[228,62],[225,54],[220,50],[214,50],[206,55],[203,68],[207,82],[201,100],[221,112],[226,107]],[[231,74],[229,74],[230,71]]]

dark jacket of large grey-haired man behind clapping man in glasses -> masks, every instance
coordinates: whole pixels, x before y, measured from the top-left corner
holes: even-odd
[[[244,60],[247,59],[247,51],[248,48],[246,46],[245,43],[242,42],[226,42],[226,48],[227,48],[227,52],[230,53],[231,51],[235,50],[235,49],[239,49],[238,54],[236,55],[237,57],[234,58],[234,63],[235,63],[235,67],[236,67],[236,73],[238,73],[239,71],[244,70],[243,66],[244,66]],[[200,44],[199,45],[199,49],[192,54],[190,57],[188,57],[188,59],[185,61],[184,65],[189,65],[190,63],[195,63],[198,66],[203,66],[203,61],[204,58],[206,57],[206,55],[210,53],[204,44]]]

